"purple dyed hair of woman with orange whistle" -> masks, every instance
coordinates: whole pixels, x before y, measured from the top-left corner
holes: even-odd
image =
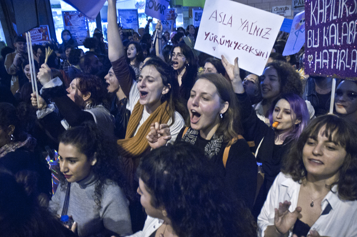
[[[300,134],[310,122],[310,114],[306,102],[303,100],[303,98],[293,93],[283,94],[279,96],[277,99],[275,99],[269,111],[270,124],[273,124],[273,111],[275,105],[281,99],[284,99],[289,103],[290,110],[294,111],[296,120],[301,121],[299,124],[296,124],[295,127],[288,134],[286,134],[285,137],[283,137],[283,139],[297,140],[297,138],[299,138]],[[292,114],[291,119],[293,119]]]

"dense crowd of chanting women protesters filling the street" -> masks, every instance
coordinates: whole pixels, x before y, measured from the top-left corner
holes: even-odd
[[[123,35],[115,5],[85,53],[34,45],[36,75],[24,38],[1,50],[0,236],[357,236],[356,81],[331,112],[285,34],[255,75],[193,25]]]

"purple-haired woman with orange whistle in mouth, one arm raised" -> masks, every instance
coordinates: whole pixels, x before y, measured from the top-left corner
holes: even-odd
[[[238,59],[235,59],[233,66],[227,62],[224,56],[222,58],[222,63],[241,105],[241,122],[245,138],[252,144],[252,152],[255,153],[257,164],[261,166],[260,172],[263,173],[263,180],[260,179],[258,182],[259,192],[257,192],[253,208],[253,215],[257,217],[275,177],[280,172],[285,154],[309,123],[309,111],[300,96],[283,94],[272,101],[269,110],[270,123],[275,125],[266,125],[258,118],[245,92],[240,77]]]

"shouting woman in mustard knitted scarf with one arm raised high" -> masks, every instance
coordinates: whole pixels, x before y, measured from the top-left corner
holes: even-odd
[[[159,58],[151,58],[142,68],[138,82],[130,70],[125,49],[116,23],[115,0],[108,1],[108,51],[114,75],[128,99],[131,111],[125,139],[117,140],[120,155],[124,157],[128,179],[134,187],[134,174],[140,157],[150,151],[146,135],[153,123],[165,124],[171,129],[170,143],[184,126],[177,101],[179,84],[173,70]],[[181,106],[183,107],[183,106]]]

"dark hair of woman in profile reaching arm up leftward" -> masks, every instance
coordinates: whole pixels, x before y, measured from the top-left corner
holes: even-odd
[[[83,95],[91,93],[90,99],[92,101],[92,105],[101,104],[104,95],[107,93],[106,90],[104,92],[104,86],[102,85],[101,79],[87,73],[79,74],[76,78],[78,78],[78,90]]]

